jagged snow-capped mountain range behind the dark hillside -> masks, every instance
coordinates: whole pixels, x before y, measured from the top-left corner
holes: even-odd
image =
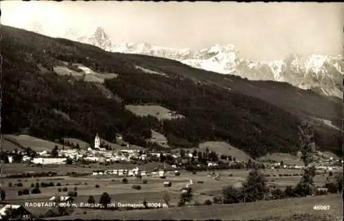
[[[239,75],[248,80],[288,82],[301,89],[312,89],[323,95],[343,97],[343,55],[292,54],[270,62],[252,62],[241,58],[239,50],[234,45],[214,45],[200,51],[191,51],[159,47],[144,42],[114,44],[101,27],[85,36],[78,36],[69,28],[60,37],[95,45],[105,51],[169,58],[206,71]]]

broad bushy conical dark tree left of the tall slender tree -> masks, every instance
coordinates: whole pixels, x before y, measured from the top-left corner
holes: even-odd
[[[243,184],[244,201],[254,202],[263,200],[268,191],[264,174],[261,174],[258,167],[254,167]]]

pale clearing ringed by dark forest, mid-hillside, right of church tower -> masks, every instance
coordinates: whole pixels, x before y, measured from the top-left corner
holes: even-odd
[[[171,110],[166,109],[162,106],[158,105],[126,105],[125,106],[128,110],[132,113],[135,113],[138,116],[148,116],[151,115],[153,117],[158,118],[159,120],[162,119],[176,119],[180,117],[184,117],[182,115],[169,115]]]

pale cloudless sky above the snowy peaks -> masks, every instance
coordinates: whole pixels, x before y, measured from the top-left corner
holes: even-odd
[[[177,49],[233,44],[242,58],[343,54],[344,3],[1,1],[1,24],[46,33],[103,27],[113,43]]]

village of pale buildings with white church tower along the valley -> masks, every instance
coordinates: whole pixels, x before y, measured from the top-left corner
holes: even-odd
[[[122,141],[122,137],[118,135],[117,137],[120,141]],[[154,140],[153,140],[154,141]],[[138,168],[133,170],[124,170],[122,168],[116,168],[116,163],[127,163],[127,164],[140,164],[144,166],[145,163],[151,161],[158,161],[164,163],[163,168],[155,168],[155,172],[166,171],[166,170],[174,170],[174,169],[186,169],[188,170],[202,170],[202,168],[208,168],[211,170],[226,170],[230,168],[235,169],[248,169],[252,167],[257,162],[254,161],[239,161],[231,156],[221,155],[218,156],[215,152],[207,153],[207,155],[211,155],[208,157],[206,161],[200,160],[200,154],[197,154],[197,151],[193,150],[186,150],[183,152],[171,152],[171,150],[166,149],[165,151],[153,151],[153,150],[138,150],[138,149],[131,149],[131,145],[129,143],[125,143],[125,148],[118,149],[118,150],[107,150],[106,148],[101,147],[100,144],[100,137],[98,134],[94,138],[94,148],[73,148],[68,150],[58,150],[57,146],[51,152],[42,151],[42,152],[34,152],[32,153],[27,152],[15,152],[7,153],[8,162],[13,163],[14,158],[18,158],[20,163],[28,163],[30,165],[52,165],[52,164],[85,164],[85,165],[92,165],[92,164],[100,164],[100,165],[114,165],[114,170],[95,170],[92,172],[92,175],[100,175],[100,174],[111,174],[111,175],[118,175],[118,176],[136,176],[138,171],[142,176],[147,175],[147,171]],[[208,150],[206,150],[208,151]],[[32,152],[32,150],[30,150]],[[14,154],[17,155],[14,156]],[[215,156],[214,156],[215,155]],[[316,155],[321,155],[321,153],[317,152]],[[212,157],[213,156],[213,157]],[[18,162],[18,161],[17,161]],[[169,165],[169,169],[166,169],[165,165]],[[193,167],[190,167],[192,165]],[[259,162],[260,167],[272,169],[272,170],[279,170],[279,169],[290,169],[295,170],[303,169],[302,164],[288,164],[281,162]],[[331,170],[341,170],[343,167],[343,160],[341,159],[334,159],[333,157],[327,158],[319,158],[316,161],[316,170],[321,171],[331,171]],[[191,168],[191,169],[190,169]],[[193,168],[193,169],[192,169]],[[178,172],[178,170],[175,170]],[[155,173],[153,172],[153,174]],[[160,172],[160,175],[163,176],[163,173]]]

